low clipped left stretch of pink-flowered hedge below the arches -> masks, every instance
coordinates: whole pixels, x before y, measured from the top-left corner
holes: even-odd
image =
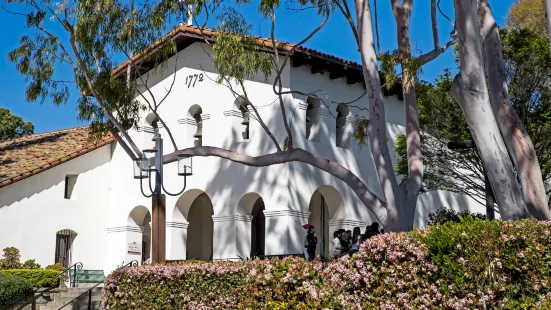
[[[140,266],[113,272],[103,301],[107,309],[321,309],[334,299],[322,270],[301,258]]]

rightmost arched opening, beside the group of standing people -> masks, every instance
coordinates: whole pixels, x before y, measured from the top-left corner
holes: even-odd
[[[318,246],[316,255],[329,257],[331,250],[331,239],[333,232],[330,230],[329,222],[337,213],[337,210],[343,205],[343,200],[339,192],[332,186],[320,186],[310,199],[310,216],[308,223],[314,225],[318,236]]]

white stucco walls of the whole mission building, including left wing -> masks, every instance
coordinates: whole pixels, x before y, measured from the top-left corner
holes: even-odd
[[[235,97],[224,85],[214,82],[211,59],[204,50],[210,47],[194,43],[172,57],[166,70],[160,75],[147,75],[150,90],[157,100],[163,98],[174,82],[172,92],[159,108],[159,114],[171,130],[178,148],[193,146],[194,121],[188,110],[194,105],[203,111],[203,145],[216,146],[251,156],[264,155],[276,151],[276,147],[262,130],[260,124],[251,118],[250,139],[235,139],[233,127],[238,110]],[[174,68],[177,73],[174,75]],[[202,81],[188,87],[186,78],[200,74]],[[261,76],[247,81],[245,87],[252,103],[257,107],[266,125],[278,139],[280,145],[286,137],[281,118],[279,102],[272,90],[274,76],[265,83]],[[330,80],[328,74],[312,75],[308,66],[286,67],[282,74],[283,90],[318,93],[332,102],[349,102],[364,93],[361,83],[348,85],[345,79]],[[234,85],[235,86],[235,85]],[[239,88],[235,88],[239,89]],[[149,95],[146,98],[151,99]],[[145,100],[139,98],[144,103]],[[302,96],[285,95],[284,105],[291,120],[296,147],[304,148],[321,157],[334,160],[355,173],[377,196],[382,190],[375,173],[369,145],[360,147],[353,140],[349,146],[336,146],[336,104],[320,109],[319,139],[305,138],[306,100]],[[354,103],[360,109],[350,108],[348,128],[354,115],[368,117],[365,99]],[[385,98],[386,118],[389,130],[389,147],[394,156],[396,135],[404,132],[404,112],[402,102],[396,96]],[[143,113],[145,119],[146,113]],[[144,121],[141,127],[148,126]],[[164,151],[174,150],[167,130],[161,128],[164,138]],[[151,133],[132,129],[130,136],[140,148],[150,148]],[[110,272],[122,262],[139,259],[139,255],[128,255],[127,244],[141,237],[138,224],[129,221],[135,208],[142,213],[151,213],[151,199],[140,191],[139,180],[133,179],[132,162],[116,143],[89,155],[79,157],[69,163],[48,170],[38,176],[0,189],[0,246],[19,246],[23,258],[37,258],[45,265],[53,261],[55,231],[69,228],[79,233],[75,243],[75,259],[78,257],[85,268],[100,268]],[[79,170],[80,169],[80,170]],[[75,188],[75,200],[63,200],[62,182],[66,173],[78,170],[82,173]],[[86,171],[86,172],[85,172]],[[270,167],[255,168],[233,163],[216,157],[193,158],[193,176],[187,178],[186,191],[177,197],[166,197],[167,218],[167,258],[183,259],[192,243],[185,244],[190,235],[189,206],[200,194],[205,193],[212,203],[213,258],[227,259],[243,256],[250,249],[250,214],[239,209],[245,195],[260,196],[265,204],[266,242],[265,254],[302,253],[302,240],[305,231],[302,225],[308,222],[309,205],[316,190],[331,200],[334,216],[329,223],[329,234],[337,228],[352,229],[375,221],[356,195],[342,181],[326,172],[302,163],[287,163]],[[178,192],[183,187],[183,177],[177,176],[176,163],[164,167],[164,185],[170,192]],[[149,194],[148,180],[144,180],[143,190]],[[251,196],[251,197],[252,197]],[[453,199],[452,199],[453,198]],[[428,212],[434,206],[450,208],[473,207],[473,202],[446,193],[428,193],[419,199],[415,225],[426,222]],[[143,206],[143,207],[140,207]],[[208,212],[207,212],[208,213]],[[204,216],[204,215],[202,215]],[[25,220],[22,220],[25,219]],[[29,223],[29,225],[27,225]],[[320,230],[318,230],[320,231]],[[9,237],[4,237],[9,236]],[[28,244],[28,240],[32,244]],[[35,242],[36,241],[36,242]],[[78,249],[78,251],[77,251]],[[144,249],[142,249],[144,250]]]

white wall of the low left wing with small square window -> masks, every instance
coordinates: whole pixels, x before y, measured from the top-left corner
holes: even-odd
[[[102,269],[106,249],[111,146],[0,189],[0,249],[13,246],[21,261],[42,267],[55,260],[56,232],[77,233],[72,262]],[[64,198],[65,176],[78,174],[71,199]]]

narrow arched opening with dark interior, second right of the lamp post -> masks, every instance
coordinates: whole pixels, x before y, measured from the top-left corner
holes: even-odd
[[[265,254],[266,217],[264,200],[257,193],[243,195],[237,204],[236,250],[241,258]]]

